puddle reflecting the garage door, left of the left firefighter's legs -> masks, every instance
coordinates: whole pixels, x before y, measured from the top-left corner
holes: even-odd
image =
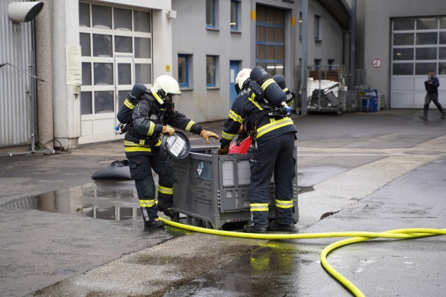
[[[134,185],[134,181],[101,180],[39,196],[20,198],[1,206],[123,221],[142,215]]]

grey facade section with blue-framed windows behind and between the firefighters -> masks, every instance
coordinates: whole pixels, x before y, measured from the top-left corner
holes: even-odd
[[[337,7],[339,11],[334,11]],[[301,1],[173,0],[178,108],[195,121],[225,119],[235,76],[260,65],[299,88]],[[308,65],[345,65],[350,11],[342,1],[309,1]]]

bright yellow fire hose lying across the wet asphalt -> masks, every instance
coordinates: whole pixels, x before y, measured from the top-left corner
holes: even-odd
[[[344,285],[347,289],[354,294],[354,296],[365,296],[350,280],[342,276],[336,269],[328,264],[327,256],[334,249],[343,247],[344,245],[350,245],[352,243],[360,243],[361,241],[370,240],[373,238],[393,238],[393,239],[410,239],[419,238],[425,236],[434,235],[446,235],[446,229],[432,229],[432,228],[408,228],[408,229],[395,229],[386,232],[325,232],[325,233],[309,233],[309,234],[254,234],[254,233],[242,233],[231,232],[215,229],[207,229],[202,227],[196,227],[186,225],[174,221],[169,221],[164,218],[160,218],[161,221],[172,227],[178,227],[181,229],[187,229],[194,232],[214,234],[221,236],[232,236],[240,238],[253,238],[253,239],[310,239],[310,238],[330,238],[330,237],[352,237],[348,239],[339,240],[336,243],[332,243],[325,247],[321,252],[321,265],[326,271],[336,278],[339,283]]]

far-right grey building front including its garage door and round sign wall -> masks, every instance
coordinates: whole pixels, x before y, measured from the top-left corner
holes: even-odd
[[[446,1],[358,0],[357,66],[392,108],[422,109],[427,70],[446,105]],[[431,104],[431,108],[436,108]]]

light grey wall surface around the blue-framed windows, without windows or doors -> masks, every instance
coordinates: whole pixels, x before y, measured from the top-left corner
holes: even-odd
[[[288,88],[296,90],[299,85],[299,12],[301,1],[287,3],[275,0],[241,1],[240,32],[231,32],[229,0],[220,0],[216,17],[217,28],[206,29],[205,0],[173,0],[172,9],[178,12],[173,20],[173,76],[178,77],[178,54],[191,55],[192,77],[190,88],[182,89],[176,101],[176,109],[187,114],[193,121],[218,121],[226,119],[229,103],[229,61],[240,61],[242,68],[255,66],[255,10],[257,5],[273,6],[286,10],[286,72]],[[290,1],[288,1],[290,2]],[[308,65],[315,59],[327,65],[333,59],[343,65],[344,32],[341,25],[318,1],[310,1],[308,7]],[[314,39],[315,15],[321,17],[321,41]],[[206,88],[206,55],[219,57],[217,86]]]

